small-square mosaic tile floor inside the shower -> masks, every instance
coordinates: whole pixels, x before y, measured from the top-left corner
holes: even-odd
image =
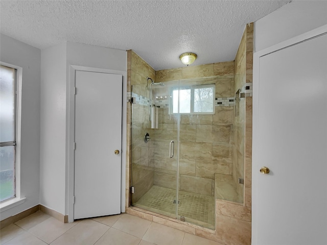
[[[186,222],[215,229],[214,197],[179,191],[178,201],[178,215],[184,216]],[[176,190],[154,185],[133,205],[174,217],[176,213]]]

